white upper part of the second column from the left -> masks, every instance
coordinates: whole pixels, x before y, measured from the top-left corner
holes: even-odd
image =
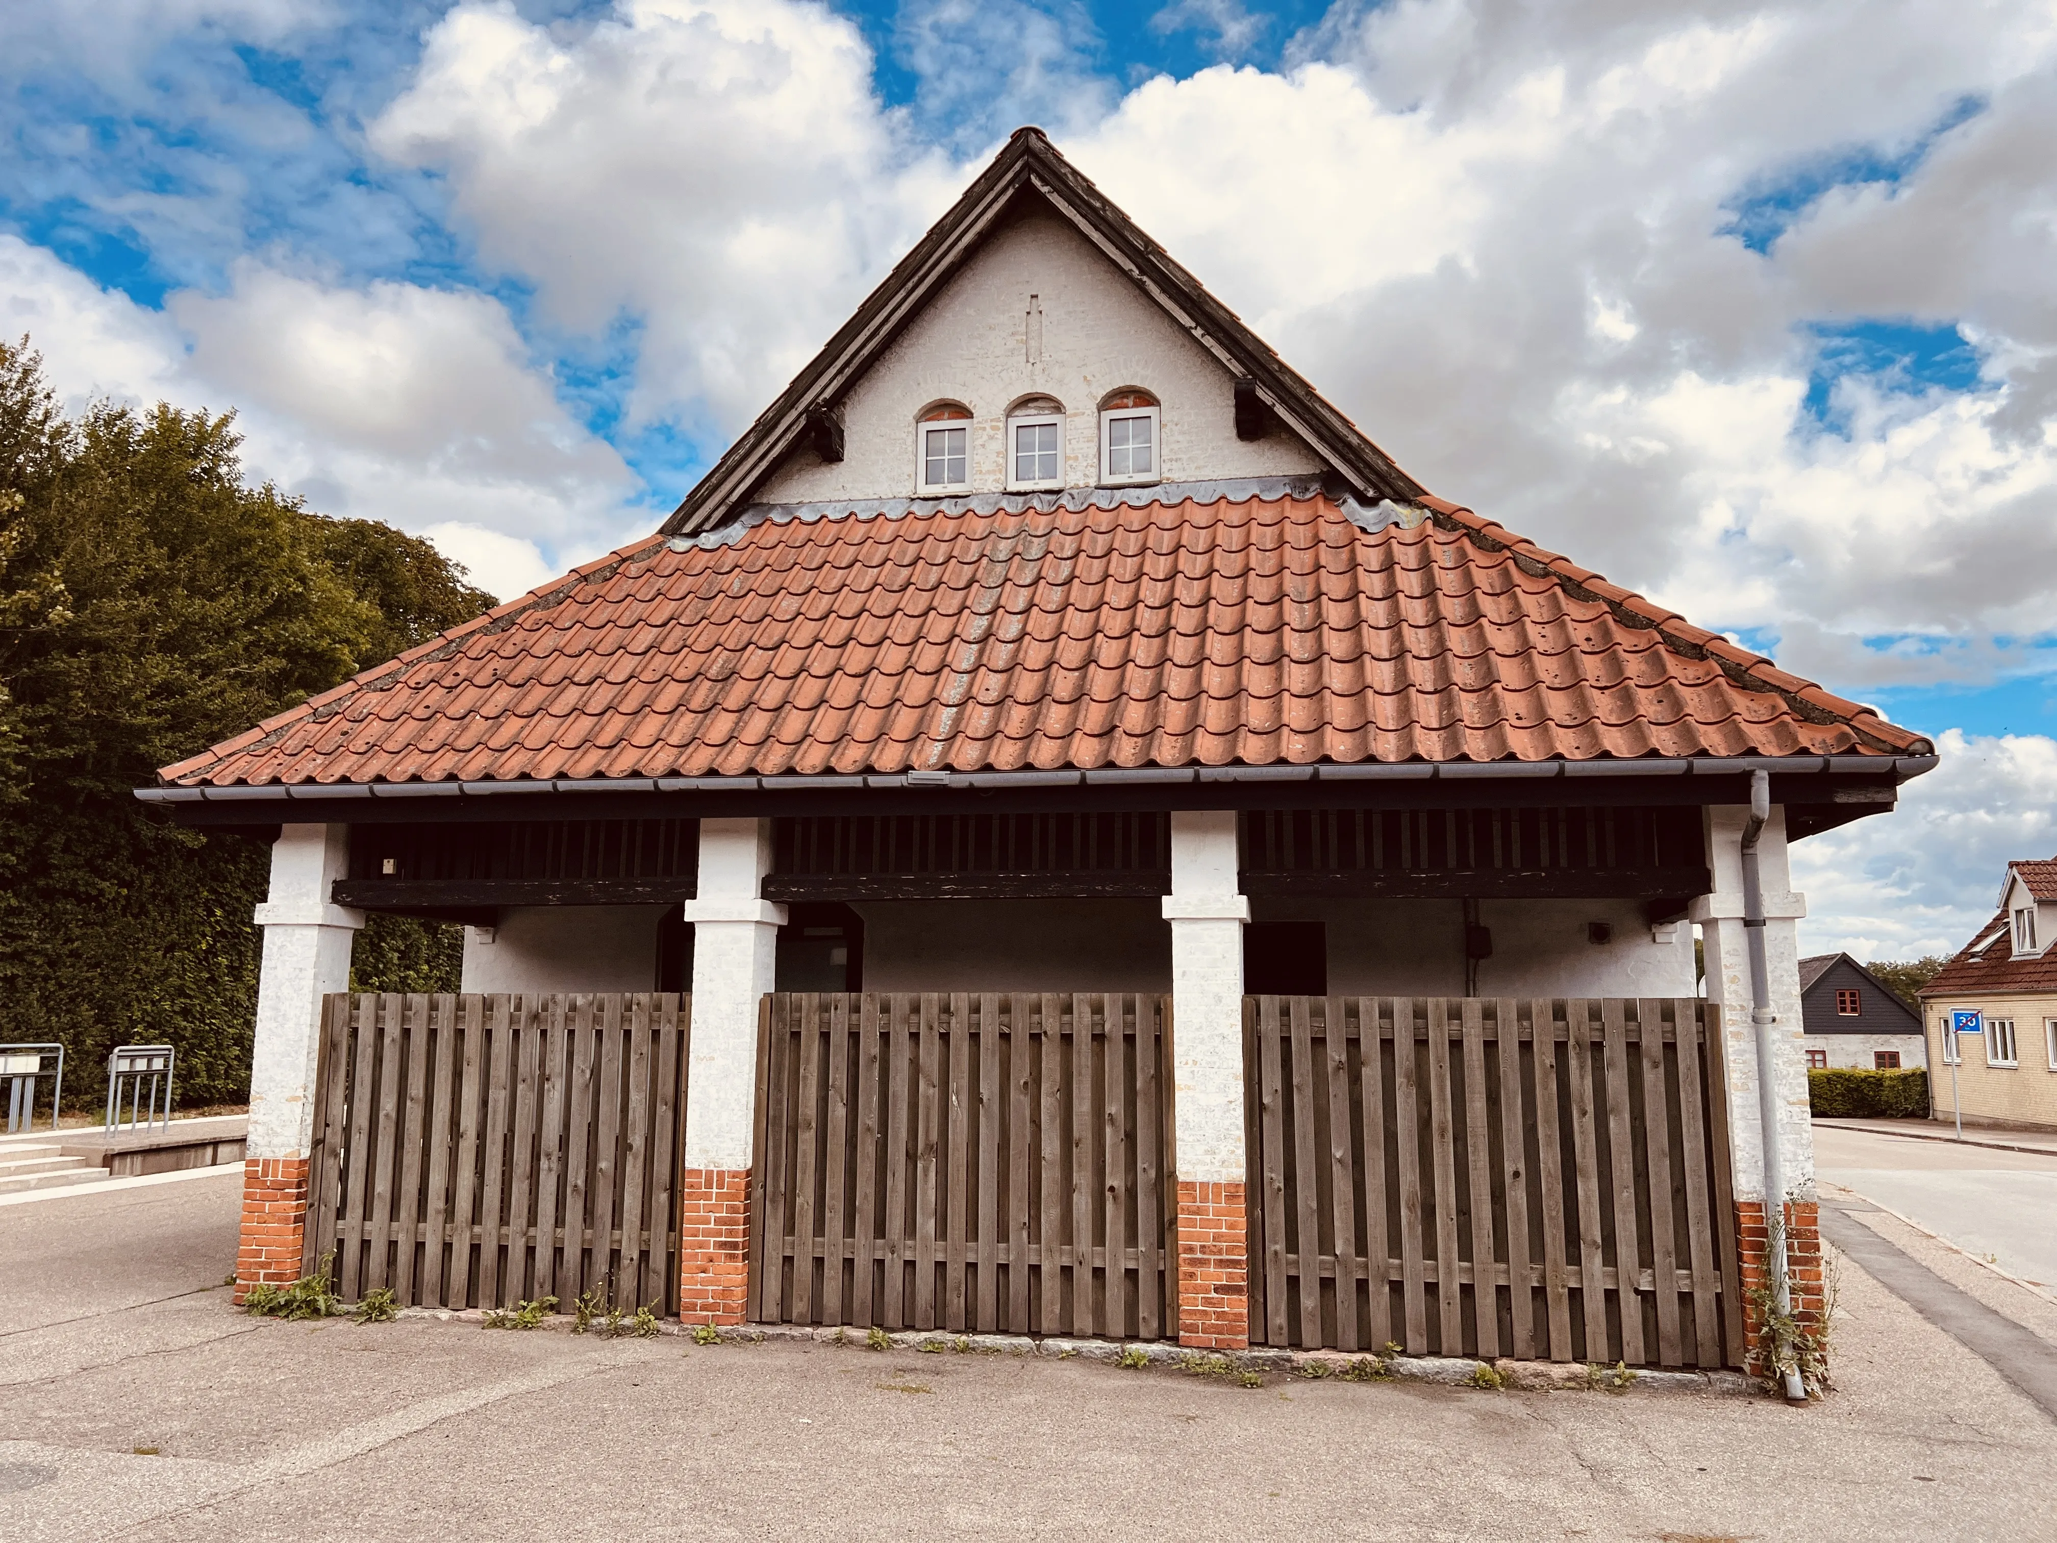
[[[773,985],[786,907],[761,899],[769,819],[699,821],[693,924],[693,1047],[685,1086],[687,1169],[751,1167],[757,1115],[757,1004]]]

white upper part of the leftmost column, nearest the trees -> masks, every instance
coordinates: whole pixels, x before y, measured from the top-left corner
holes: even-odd
[[[286,825],[272,844],[272,893],[257,907],[251,1158],[304,1158],[315,1142],[321,998],[350,990],[350,944],[364,926],[364,911],[329,903],[329,887],[348,874],[348,825]]]

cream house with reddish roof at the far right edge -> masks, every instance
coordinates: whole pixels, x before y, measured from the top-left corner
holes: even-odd
[[[2057,1129],[2057,858],[2010,862],[1999,909],[1921,988],[1936,1119]],[[1977,1010],[1983,1033],[1950,1035],[1954,1012]],[[1952,1092],[1950,1039],[1962,1055]],[[1956,1101],[1956,1103],[1954,1103]]]

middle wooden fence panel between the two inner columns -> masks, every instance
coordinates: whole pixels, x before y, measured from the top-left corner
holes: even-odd
[[[753,1317],[1177,1335],[1168,1006],[769,998]]]

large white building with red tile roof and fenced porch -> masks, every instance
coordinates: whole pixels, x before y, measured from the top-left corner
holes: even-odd
[[[140,796],[274,841],[245,1284],[1716,1364],[1746,833],[1812,1311],[1788,844],[1932,765],[1426,492],[1022,130],[658,533]],[[339,996],[368,911],[465,996]]]

